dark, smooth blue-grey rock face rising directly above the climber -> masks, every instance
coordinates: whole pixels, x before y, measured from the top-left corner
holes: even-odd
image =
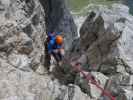
[[[77,28],[65,5],[65,0],[40,0],[46,13],[48,32],[63,32],[65,48],[68,50],[77,36]]]

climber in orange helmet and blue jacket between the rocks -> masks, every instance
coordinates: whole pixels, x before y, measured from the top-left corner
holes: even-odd
[[[64,57],[63,37],[60,33],[49,32],[48,33],[48,53],[53,56],[59,66],[62,65],[62,59]]]

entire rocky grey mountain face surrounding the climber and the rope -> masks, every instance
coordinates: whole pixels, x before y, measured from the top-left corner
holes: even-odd
[[[77,28],[65,1],[0,0],[0,100],[108,100],[72,69],[73,59],[117,100],[132,100],[133,16],[128,10],[118,4],[93,10],[75,39]],[[49,31],[63,33],[70,54],[51,73],[45,47]]]

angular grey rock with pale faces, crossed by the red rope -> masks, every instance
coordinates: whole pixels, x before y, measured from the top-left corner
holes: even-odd
[[[85,72],[85,73],[88,74],[88,72]],[[105,75],[103,75],[102,73],[99,73],[99,72],[91,72],[90,74],[94,77],[93,78],[94,81],[101,88],[104,89],[106,86],[108,77],[106,77]],[[88,74],[88,75],[90,75],[90,74]],[[85,93],[87,93],[91,98],[99,99],[103,92],[99,88],[97,88],[97,86],[95,84],[92,84],[91,80],[86,80],[86,78],[84,78],[82,76],[82,74],[80,76],[77,76],[77,78],[75,80],[75,84],[79,85],[81,90],[84,91]]]

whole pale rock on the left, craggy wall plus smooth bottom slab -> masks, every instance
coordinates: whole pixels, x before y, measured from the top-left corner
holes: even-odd
[[[45,73],[45,16],[38,0],[0,0],[0,100],[90,100],[78,86]],[[70,17],[63,18],[60,24]]]

